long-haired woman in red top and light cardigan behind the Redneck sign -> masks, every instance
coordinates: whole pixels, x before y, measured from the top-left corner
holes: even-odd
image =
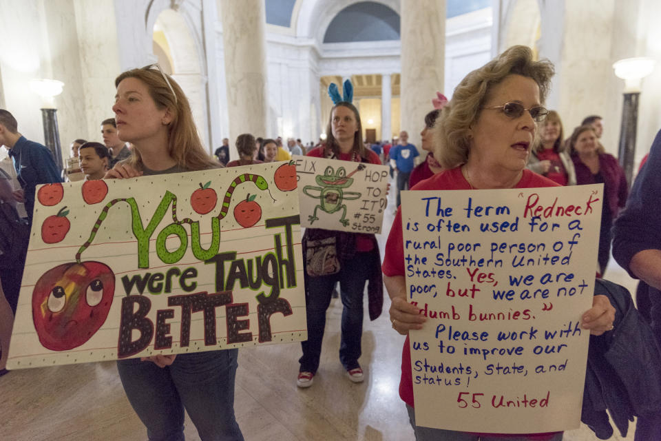
[[[541,140],[530,152],[528,168],[560,185],[576,185],[576,171],[563,143],[563,122],[549,110],[540,127]]]

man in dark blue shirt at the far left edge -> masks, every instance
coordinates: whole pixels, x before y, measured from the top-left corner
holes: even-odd
[[[21,189],[14,191],[14,199],[25,203],[28,221],[32,224],[34,189],[36,185],[62,182],[60,170],[50,150],[44,145],[28,141],[19,133],[18,123],[7,110],[0,109],[0,145],[9,150]]]

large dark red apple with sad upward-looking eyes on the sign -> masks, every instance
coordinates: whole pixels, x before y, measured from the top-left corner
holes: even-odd
[[[46,271],[32,291],[32,321],[41,344],[52,351],[83,345],[105,322],[114,292],[115,275],[101,262]]]

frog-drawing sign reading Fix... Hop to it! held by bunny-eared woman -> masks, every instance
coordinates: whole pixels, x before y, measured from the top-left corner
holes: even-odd
[[[388,198],[388,167],[293,156],[303,227],[380,233]]]

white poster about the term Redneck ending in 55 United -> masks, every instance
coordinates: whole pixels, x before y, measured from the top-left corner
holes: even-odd
[[[601,207],[602,185],[403,194],[417,424],[578,427]]]

